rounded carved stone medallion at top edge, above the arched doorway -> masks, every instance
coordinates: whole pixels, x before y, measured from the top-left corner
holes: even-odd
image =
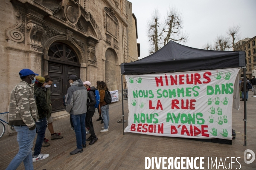
[[[62,0],[61,8],[62,19],[75,26],[81,16],[78,0]]]

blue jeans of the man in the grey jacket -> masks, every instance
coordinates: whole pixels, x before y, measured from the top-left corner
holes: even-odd
[[[86,131],[85,131],[85,115],[86,113],[83,114],[70,114],[72,117],[72,122],[75,128],[75,133],[76,133],[76,147],[78,149],[82,149],[82,144],[85,143],[86,139]]]

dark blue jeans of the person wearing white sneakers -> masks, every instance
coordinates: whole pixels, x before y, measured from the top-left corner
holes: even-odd
[[[38,119],[38,122],[35,122],[38,136],[35,142],[35,153],[34,156],[38,156],[41,153],[42,144],[44,142],[44,134],[47,128],[47,118]]]

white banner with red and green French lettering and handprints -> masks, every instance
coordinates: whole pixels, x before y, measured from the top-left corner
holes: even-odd
[[[125,76],[125,132],[232,139],[233,88],[239,68]]]

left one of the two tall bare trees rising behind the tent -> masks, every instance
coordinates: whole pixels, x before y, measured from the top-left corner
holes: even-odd
[[[151,15],[151,19],[148,21],[148,38],[151,49],[150,54],[158,51],[161,47],[162,31],[160,28],[160,14],[155,9]]]

